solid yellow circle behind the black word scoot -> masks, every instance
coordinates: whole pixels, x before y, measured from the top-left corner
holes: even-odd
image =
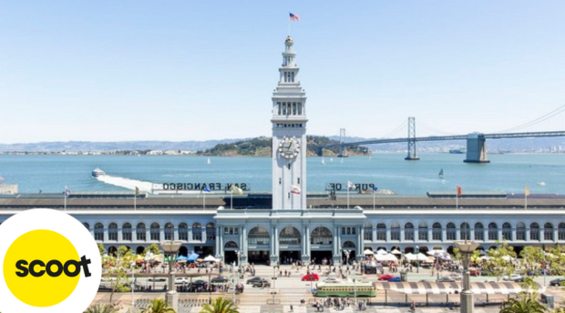
[[[77,249],[55,231],[37,229],[15,239],[5,254],[5,283],[15,298],[33,307],[51,307],[77,288]]]

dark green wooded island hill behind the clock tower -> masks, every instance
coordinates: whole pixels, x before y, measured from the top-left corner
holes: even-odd
[[[307,148],[306,156],[318,156],[321,152],[321,146],[337,144],[339,141],[330,139],[326,136],[306,136]],[[324,149],[324,156],[334,156],[338,153],[338,149]],[[366,155],[368,148],[365,146],[352,147],[347,149],[350,156]],[[241,140],[230,144],[220,144],[210,149],[198,151],[197,154],[202,156],[218,156],[218,157],[234,157],[234,156],[252,156],[252,157],[270,157],[272,155],[272,139],[271,137],[257,137],[247,140]]]

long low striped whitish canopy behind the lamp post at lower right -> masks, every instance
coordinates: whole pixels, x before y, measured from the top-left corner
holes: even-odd
[[[375,282],[377,290],[392,290],[409,295],[445,295],[461,292],[460,282]],[[519,283],[501,282],[471,282],[471,290],[476,295],[513,295],[519,292],[533,292],[529,288],[522,288]],[[541,290],[541,287],[539,287]]]

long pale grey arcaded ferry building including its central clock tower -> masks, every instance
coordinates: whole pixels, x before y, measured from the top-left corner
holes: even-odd
[[[108,252],[127,246],[141,253],[162,240],[183,240],[181,255],[196,252],[226,262],[320,263],[363,257],[367,248],[421,252],[449,250],[454,241],[475,240],[480,248],[501,240],[516,247],[565,243],[565,197],[524,199],[506,194],[426,197],[308,195],[306,94],[299,80],[293,38],[284,41],[278,86],[272,94],[272,197],[212,194],[140,196],[75,193],[67,213],[81,221]],[[265,121],[267,123],[267,121]],[[0,223],[30,208],[63,210],[61,195],[0,197]]]

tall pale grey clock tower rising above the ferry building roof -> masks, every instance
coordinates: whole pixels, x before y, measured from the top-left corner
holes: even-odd
[[[293,38],[284,41],[272,93],[272,208],[306,208],[306,92],[298,80]]]

